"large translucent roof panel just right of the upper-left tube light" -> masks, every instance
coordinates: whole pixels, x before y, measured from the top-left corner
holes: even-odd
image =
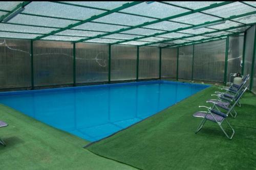
[[[29,14],[84,20],[105,11],[51,2],[32,2],[26,6],[24,12]]]

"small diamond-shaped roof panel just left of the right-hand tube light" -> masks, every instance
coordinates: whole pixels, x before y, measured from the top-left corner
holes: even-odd
[[[171,31],[171,30],[176,30],[178,28],[188,27],[188,26],[189,25],[185,25],[185,24],[182,24],[182,23],[162,21],[162,22],[154,23],[152,25],[145,26],[145,28]]]

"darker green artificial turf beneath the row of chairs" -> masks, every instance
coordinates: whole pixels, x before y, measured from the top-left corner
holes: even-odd
[[[226,138],[207,121],[195,134],[199,105],[219,91],[209,87],[124,131],[89,145],[91,152],[141,169],[256,169],[256,97],[246,92],[236,118],[228,117],[236,133]]]

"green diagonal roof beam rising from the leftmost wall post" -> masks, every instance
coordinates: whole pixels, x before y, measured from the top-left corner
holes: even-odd
[[[50,32],[50,33],[47,34],[47,35],[43,35],[43,36],[36,37],[36,38],[33,39],[33,40],[38,40],[38,39],[41,39],[41,38],[48,37],[48,36],[50,36],[50,35],[53,35],[53,34],[56,34],[56,33],[59,33],[59,32],[62,32],[62,31],[68,30],[68,29],[71,29],[71,28],[73,28],[73,27],[82,25],[83,23],[92,21],[92,20],[94,20],[94,19],[98,19],[98,18],[100,18],[100,17],[103,17],[103,16],[106,16],[106,15],[112,14],[112,13],[114,13],[114,12],[123,10],[123,9],[125,9],[125,8],[129,8],[129,7],[135,6],[135,5],[140,4],[140,3],[142,3],[142,2],[139,2],[139,1],[138,1],[138,2],[132,2],[132,3],[123,4],[121,7],[115,8],[115,9],[110,10],[110,11],[106,11],[106,12],[104,12],[104,13],[102,13],[102,14],[99,14],[99,15],[94,15],[94,16],[92,16],[92,17],[86,19],[86,20],[82,20],[82,21],[79,21],[79,22],[77,22],[77,23],[71,24],[71,25],[69,25],[68,27],[65,27],[65,28],[62,28],[62,29],[59,29],[59,30],[56,30],[56,31],[52,31],[52,32]]]

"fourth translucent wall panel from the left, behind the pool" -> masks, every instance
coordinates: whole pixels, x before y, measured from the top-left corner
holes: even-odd
[[[111,81],[134,80],[137,71],[137,46],[111,45]]]

